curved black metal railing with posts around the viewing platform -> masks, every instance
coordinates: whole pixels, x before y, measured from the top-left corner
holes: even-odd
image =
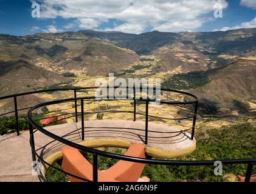
[[[143,158],[136,158],[136,157],[132,157],[132,156],[125,156],[125,155],[119,155],[119,154],[115,154],[115,153],[108,153],[108,152],[103,152],[97,149],[92,149],[89,147],[85,147],[85,146],[81,146],[80,144],[77,144],[75,142],[69,141],[68,139],[65,139],[64,136],[68,135],[64,135],[64,136],[58,136],[55,135],[54,133],[51,133],[49,131],[47,131],[46,129],[44,129],[43,127],[41,127],[40,125],[36,124],[36,122],[33,120],[32,118],[32,113],[33,110],[38,109],[40,107],[43,107],[44,105],[51,105],[51,104],[60,104],[63,102],[74,102],[75,104],[75,113],[74,116],[71,117],[75,117],[75,121],[78,122],[78,116],[81,116],[81,118],[83,118],[84,116],[84,112],[83,112],[83,101],[88,100],[88,99],[94,99],[94,96],[88,96],[88,97],[83,97],[83,98],[77,98],[77,91],[78,90],[84,90],[84,89],[97,89],[97,87],[81,87],[81,88],[75,88],[75,89],[52,89],[52,90],[40,90],[40,91],[35,91],[35,92],[27,92],[27,93],[20,93],[17,95],[10,95],[10,96],[5,96],[5,97],[1,97],[1,99],[6,99],[6,98],[13,98],[14,99],[14,104],[15,104],[15,117],[16,117],[16,130],[17,130],[17,135],[19,135],[19,129],[18,129],[18,112],[20,110],[24,110],[24,109],[18,109],[17,108],[17,101],[16,98],[18,96],[24,96],[24,95],[30,95],[30,94],[34,94],[34,93],[43,93],[43,92],[54,92],[54,91],[61,91],[61,90],[73,90],[74,91],[74,98],[69,98],[69,99],[60,99],[57,101],[50,101],[50,102],[44,102],[43,104],[38,104],[35,105],[34,107],[30,108],[29,113],[28,113],[28,119],[29,119],[29,125],[30,125],[30,146],[32,148],[32,159],[33,161],[40,161],[42,162],[44,165],[50,166],[56,170],[59,170],[63,173],[66,173],[69,176],[74,176],[75,178],[81,179],[83,181],[98,181],[98,165],[97,165],[97,157],[99,156],[105,156],[108,158],[114,158],[114,159],[120,159],[120,160],[124,160],[124,161],[131,161],[131,162],[140,162],[140,163],[144,163],[144,164],[161,164],[161,165],[171,165],[171,166],[212,166],[215,162],[215,160],[206,160],[206,161],[176,161],[176,160],[161,160],[161,159],[143,159]],[[193,139],[194,136],[194,132],[195,132],[195,122],[196,122],[196,112],[197,112],[197,107],[198,107],[198,99],[196,98],[196,96],[190,94],[190,93],[186,93],[186,92],[181,92],[181,91],[176,91],[176,90],[170,90],[170,89],[162,89],[162,91],[167,91],[167,92],[176,92],[176,93],[181,93],[183,95],[188,95],[191,96],[192,98],[194,98],[192,101],[161,101],[161,104],[170,104],[170,105],[184,105],[184,104],[195,104],[194,108],[189,107],[190,110],[193,110],[194,114],[193,114],[193,125],[192,125],[192,135],[191,135],[191,139]],[[120,100],[120,99],[119,99]],[[134,111],[133,112],[128,112],[128,113],[134,113],[134,121],[136,120],[136,100],[137,99],[130,99],[134,101]],[[147,134],[147,122],[148,122],[148,103],[151,101],[150,99],[139,99],[139,100],[143,100],[146,102],[146,128],[145,128],[145,133]],[[77,111],[77,102],[81,101],[81,112]],[[29,108],[27,108],[29,109]],[[26,109],[25,109],[26,110]],[[95,112],[92,112],[95,113]],[[68,114],[72,114],[72,113],[68,113]],[[88,114],[88,113],[86,113]],[[83,122],[83,119],[81,119],[81,122]],[[83,129],[83,124],[81,129]],[[81,178],[78,177],[76,175],[72,175],[71,173],[67,173],[64,172],[63,170],[58,169],[57,167],[53,166],[52,164],[49,164],[48,162],[44,161],[44,158],[41,154],[38,154],[38,150],[43,149],[43,147],[41,147],[40,149],[35,149],[35,141],[34,141],[34,133],[40,131],[41,133],[43,133],[46,136],[49,136],[50,138],[54,139],[52,142],[54,141],[58,141],[61,144],[66,144],[68,146],[74,147],[76,149],[79,150],[83,150],[85,152],[89,152],[92,153],[93,155],[93,179],[92,180],[88,180],[85,178]],[[147,135],[145,134],[145,144],[147,144]],[[82,139],[84,139],[84,133],[82,132]],[[50,144],[50,142],[49,142]],[[230,160],[220,160],[223,165],[226,164],[247,164],[247,170],[246,170],[246,178],[245,181],[249,182],[250,178],[251,178],[251,174],[252,174],[252,169],[253,169],[253,165],[256,163],[256,159],[230,159]],[[39,176],[40,179],[42,179],[42,176]]]

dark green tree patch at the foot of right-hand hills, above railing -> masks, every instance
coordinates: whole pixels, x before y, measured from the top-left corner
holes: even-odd
[[[179,73],[166,79],[162,85],[168,89],[189,90],[201,87],[209,82],[209,78],[203,72]]]

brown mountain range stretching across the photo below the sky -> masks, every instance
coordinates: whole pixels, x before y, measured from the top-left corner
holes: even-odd
[[[144,65],[146,76],[165,80],[201,72],[209,81],[187,90],[201,101],[234,109],[234,100],[256,99],[255,55],[256,28],[140,35],[94,30],[0,35],[0,92],[4,96],[69,82],[63,76],[66,72],[129,76],[137,70],[133,68]]]

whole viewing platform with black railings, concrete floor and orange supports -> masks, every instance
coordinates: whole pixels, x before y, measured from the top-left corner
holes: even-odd
[[[2,115],[15,113],[17,134],[6,135],[0,139],[0,181],[46,181],[49,167],[66,174],[69,181],[145,181],[140,175],[146,164],[214,164],[213,160],[176,160],[196,149],[196,96],[161,89],[161,102],[158,107],[149,98],[135,99],[127,96],[127,99],[99,100],[90,96],[90,92],[80,92],[86,95],[77,97],[79,90],[94,89],[97,88],[41,90],[0,98],[13,98],[15,110]],[[74,98],[18,108],[19,96],[61,90],[74,91]],[[117,105],[108,105],[111,101],[116,101]],[[99,102],[103,102],[105,106]],[[50,111],[38,117],[38,112],[47,110],[45,107],[50,107]],[[19,111],[27,109],[29,131],[19,132]],[[111,153],[104,148],[120,148],[124,152]],[[82,152],[91,154],[91,161]],[[106,170],[99,170],[99,156],[117,159],[117,162]],[[250,181],[255,159],[221,162],[224,165],[247,164],[244,181]],[[60,164],[63,169],[54,167],[55,163]]]

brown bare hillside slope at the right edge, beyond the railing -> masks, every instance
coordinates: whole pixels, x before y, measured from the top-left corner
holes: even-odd
[[[256,99],[256,61],[238,59],[225,67],[209,70],[210,82],[191,90],[199,99],[215,102],[217,107],[234,108],[241,102]]]

